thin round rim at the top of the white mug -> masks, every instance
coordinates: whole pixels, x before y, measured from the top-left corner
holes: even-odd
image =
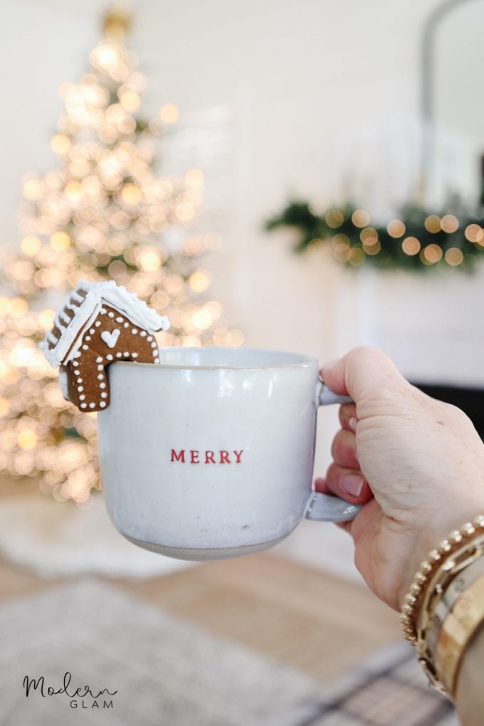
[[[230,365],[230,364],[203,364],[197,365],[195,363],[143,363],[139,361],[123,361],[115,360],[112,364],[122,366],[136,366],[136,367],[155,367],[155,368],[168,368],[171,370],[272,370],[279,368],[308,368],[314,363],[319,366],[318,359],[312,356],[306,356],[301,353],[293,353],[292,351],[280,351],[272,348],[231,348],[230,346],[166,346],[159,348],[160,352],[163,351],[201,351],[201,350],[216,350],[216,351],[244,351],[247,354],[276,354],[281,356],[293,356],[298,360],[285,363],[271,363],[271,364],[255,364],[255,365]],[[111,365],[112,365],[111,364]]]

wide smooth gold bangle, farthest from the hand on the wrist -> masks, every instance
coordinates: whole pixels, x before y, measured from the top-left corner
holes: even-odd
[[[435,669],[453,698],[464,650],[483,621],[484,575],[481,575],[462,593],[443,621],[435,648]]]

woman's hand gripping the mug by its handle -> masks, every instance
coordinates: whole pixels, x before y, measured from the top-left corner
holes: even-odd
[[[355,348],[321,377],[355,403],[340,408],[334,462],[316,490],[364,504],[340,526],[366,583],[400,609],[427,552],[484,513],[484,444],[460,409],[411,386],[374,348]]]

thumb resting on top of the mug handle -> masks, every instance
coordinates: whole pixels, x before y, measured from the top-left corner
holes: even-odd
[[[332,391],[349,395],[356,403],[381,388],[396,392],[409,386],[385,353],[368,346],[353,348],[343,358],[323,366],[321,378]]]

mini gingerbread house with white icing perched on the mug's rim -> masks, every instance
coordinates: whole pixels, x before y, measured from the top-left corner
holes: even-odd
[[[110,402],[106,367],[159,363],[153,332],[168,327],[168,318],[114,281],[81,281],[39,346],[52,367],[60,365],[65,398],[81,411],[102,411]]]

